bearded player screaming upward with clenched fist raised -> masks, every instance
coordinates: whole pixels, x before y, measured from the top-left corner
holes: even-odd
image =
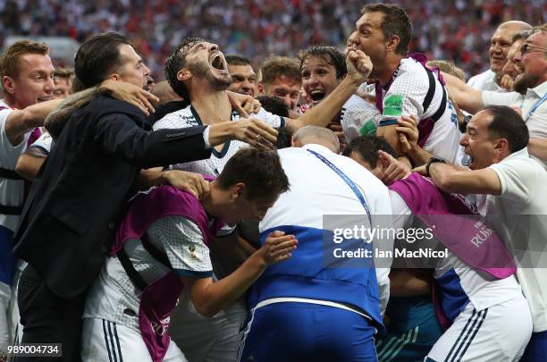
[[[312,123],[326,126],[337,114],[336,110],[341,108],[345,100],[365,80],[364,76],[368,74],[366,66],[370,66],[366,63],[367,59],[368,57],[362,52],[351,52],[347,60],[347,77],[320,105],[309,110],[299,119],[287,119],[262,109],[257,114],[257,118],[263,119],[274,128],[282,128],[285,124],[295,130]],[[231,77],[223,53],[217,45],[201,38],[185,39],[166,61],[165,78],[179,96],[189,99],[191,105],[181,111],[167,114],[162,120],[156,122],[155,130],[215,124],[229,119],[236,121],[235,123],[242,122],[240,114],[234,112],[228,102],[225,89],[230,86]],[[217,176],[223,172],[223,167],[230,157],[241,147],[244,147],[241,142],[227,142],[222,147],[215,147],[213,155],[209,159],[176,164],[173,167]],[[225,235],[227,232],[231,232],[231,230],[224,230],[222,234]],[[231,263],[235,258],[232,254],[235,246],[231,246],[224,253],[216,254],[222,258],[215,257],[215,249],[221,248],[223,244],[226,245],[230,241],[215,242],[218,247],[213,245],[215,273],[218,273],[217,266],[219,264]],[[243,242],[238,244],[238,248],[252,250],[248,243],[244,244]],[[249,255],[245,251],[242,254]],[[188,295],[183,294],[179,307],[173,313],[171,335],[173,341],[181,347],[190,361],[233,361],[236,358],[240,342],[240,324],[246,316],[247,310],[244,302],[239,300],[224,308],[213,318],[205,319],[198,316],[194,307],[189,303]]]

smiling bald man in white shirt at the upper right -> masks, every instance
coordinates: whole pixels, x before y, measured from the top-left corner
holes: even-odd
[[[518,31],[528,29],[532,29],[532,27],[524,21],[505,21],[501,23],[490,39],[490,69],[471,77],[467,80],[467,85],[479,90],[503,92],[501,78],[503,76],[503,67],[509,59],[509,47],[513,42],[511,38]]]

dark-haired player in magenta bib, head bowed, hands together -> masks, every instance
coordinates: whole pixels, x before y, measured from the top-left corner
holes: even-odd
[[[88,293],[83,360],[107,360],[113,354],[120,361],[185,361],[167,332],[182,288],[200,315],[215,316],[268,265],[290,258],[297,241],[274,231],[235,272],[222,281],[212,278],[209,247],[223,223],[262,219],[289,189],[277,152],[240,149],[210,180],[210,189],[202,200],[170,186],[133,198],[111,256]],[[156,253],[149,254],[151,249]]]

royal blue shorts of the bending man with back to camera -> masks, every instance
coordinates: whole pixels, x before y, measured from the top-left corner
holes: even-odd
[[[240,362],[373,362],[376,329],[358,313],[302,302],[251,311]]]

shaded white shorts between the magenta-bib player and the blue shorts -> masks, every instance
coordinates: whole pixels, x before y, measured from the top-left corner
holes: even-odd
[[[240,299],[216,316],[201,316],[185,290],[173,310],[169,334],[190,362],[233,362],[246,318],[247,308]]]

